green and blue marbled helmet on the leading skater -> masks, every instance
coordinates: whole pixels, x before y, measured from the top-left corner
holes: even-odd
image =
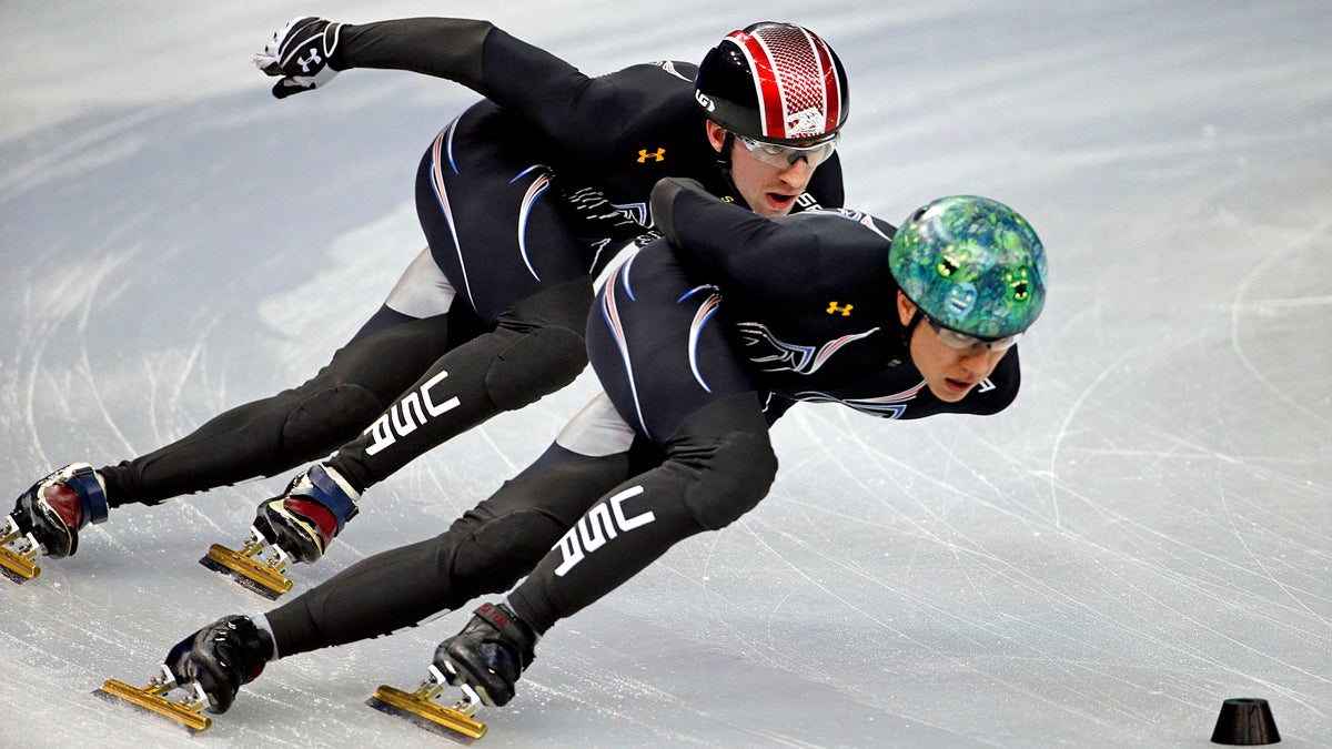
[[[958,195],[918,208],[888,249],[892,277],[935,323],[979,339],[1026,331],[1046,305],[1046,251],[1007,205]]]

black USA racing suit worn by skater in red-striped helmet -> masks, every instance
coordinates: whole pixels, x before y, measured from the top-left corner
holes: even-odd
[[[658,179],[693,177],[742,203],[707,141],[691,64],[587,77],[486,21],[456,19],[344,25],[330,60],[486,96],[422,157],[429,256],[312,380],[103,468],[113,506],[273,476],[338,448],[330,464],[365,489],[583,369],[591,280],[651,228]],[[840,203],[834,157],[798,208]]]

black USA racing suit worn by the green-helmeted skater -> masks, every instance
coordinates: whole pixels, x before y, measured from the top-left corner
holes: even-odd
[[[587,324],[625,449],[581,453],[561,444],[566,429],[446,533],[270,612],[282,654],[393,632],[523,576],[509,601],[545,632],[758,504],[777,470],[769,425],[798,401],[920,418],[991,414],[1016,396],[1016,348],[958,402],[924,386],[896,312],[891,225],[850,211],[767,220],[671,183],[653,208],[670,244],[615,269]]]

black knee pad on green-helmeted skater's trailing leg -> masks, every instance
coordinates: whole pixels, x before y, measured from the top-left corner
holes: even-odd
[[[555,518],[537,510],[513,512],[484,522],[454,549],[449,577],[454,594],[476,597],[513,588],[565,530]]]

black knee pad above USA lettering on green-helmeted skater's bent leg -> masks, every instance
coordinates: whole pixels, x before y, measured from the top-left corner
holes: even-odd
[[[711,445],[678,458],[690,472],[682,501],[703,528],[718,530],[754,509],[777,478],[767,433],[727,432]]]

